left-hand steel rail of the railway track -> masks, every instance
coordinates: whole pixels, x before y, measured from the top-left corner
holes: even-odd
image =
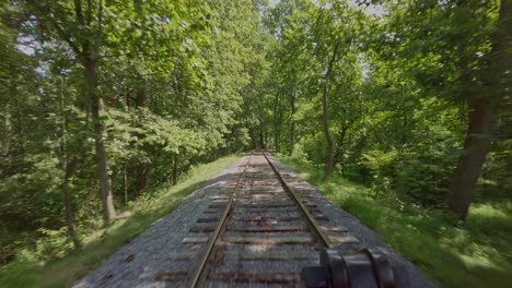
[[[251,153],[251,157],[253,156],[253,153]],[[198,265],[195,267],[194,273],[191,275],[191,280],[189,281],[190,288],[196,288],[196,287],[201,287],[201,280],[206,276],[206,267],[208,264],[208,260],[210,259],[212,252],[213,252],[213,247],[216,245],[217,240],[219,239],[219,236],[225,230],[225,224],[228,223],[228,216],[230,215],[231,209],[233,208],[233,204],[235,203],[235,199],[238,195],[242,179],[244,178],[247,168],[249,166],[251,158],[247,159],[247,163],[245,164],[244,170],[238,177],[238,180],[236,181],[236,185],[234,188],[233,193],[230,196],[230,200],[228,202],[228,207],[225,208],[224,213],[222,214],[222,217],[220,218],[220,223],[217,226],[216,230],[213,231],[213,236],[208,242],[207,250],[202,254],[201,259],[199,260]]]

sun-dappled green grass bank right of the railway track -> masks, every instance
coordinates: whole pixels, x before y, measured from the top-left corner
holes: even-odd
[[[444,287],[510,287],[512,283],[512,202],[475,204],[456,227],[442,212],[404,207],[389,197],[304,160],[281,161],[315,184],[340,207],[377,231],[384,241]]]

